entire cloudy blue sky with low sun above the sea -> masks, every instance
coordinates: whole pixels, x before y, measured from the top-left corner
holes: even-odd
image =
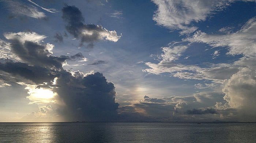
[[[256,122],[255,0],[0,6],[0,122]]]

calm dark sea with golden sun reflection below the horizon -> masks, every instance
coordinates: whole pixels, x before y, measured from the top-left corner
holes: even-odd
[[[256,123],[0,123],[0,142],[256,143]]]

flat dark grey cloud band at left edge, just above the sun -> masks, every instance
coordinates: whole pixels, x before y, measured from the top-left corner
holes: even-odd
[[[20,62],[0,63],[0,70],[9,73],[12,76],[20,76],[22,78],[31,80],[37,84],[50,82],[54,79],[54,77],[57,76],[57,74],[54,73],[54,70]]]

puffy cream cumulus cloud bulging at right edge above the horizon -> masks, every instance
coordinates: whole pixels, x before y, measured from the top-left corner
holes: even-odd
[[[231,108],[236,108],[243,120],[256,118],[256,72],[249,68],[242,68],[229,80],[225,80],[223,93],[224,99]]]

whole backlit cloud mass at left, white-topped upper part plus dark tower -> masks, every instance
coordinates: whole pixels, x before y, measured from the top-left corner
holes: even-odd
[[[12,55],[3,55],[0,59],[0,81],[5,81],[0,85],[11,86],[7,83],[16,82],[25,86],[31,104],[40,107],[33,114],[35,119],[39,119],[37,115],[52,112],[66,121],[110,121],[117,116],[113,83],[107,82],[99,72],[83,74],[63,69],[66,60],[84,59],[82,53],[53,56],[54,45],[45,44],[42,40],[46,36],[35,32],[5,33],[4,36],[10,43],[1,41],[1,44]],[[48,107],[49,103],[54,103],[55,108],[42,112],[41,107]]]

